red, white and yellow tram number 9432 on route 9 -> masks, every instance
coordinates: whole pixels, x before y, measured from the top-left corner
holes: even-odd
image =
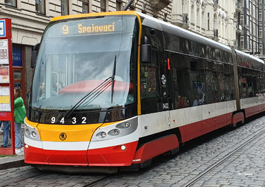
[[[135,11],[55,17],[32,56],[27,164],[142,168],[265,110],[263,61]]]

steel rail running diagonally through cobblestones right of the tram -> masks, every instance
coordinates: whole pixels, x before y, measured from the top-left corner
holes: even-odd
[[[240,150],[242,150],[242,148],[246,147],[248,144],[250,144],[251,142],[253,142],[254,140],[256,140],[258,137],[260,137],[261,135],[263,135],[265,133],[265,129],[262,130],[260,133],[257,133],[257,134],[256,133],[257,133],[257,131],[255,133],[253,133],[253,137],[251,137],[249,140],[246,140],[246,142],[244,142],[243,144],[241,144],[237,148],[233,149],[233,151],[231,151],[229,154],[227,154],[224,157],[222,157],[221,159],[219,159],[217,162],[215,162],[214,164],[212,164],[211,166],[209,166],[203,172],[199,173],[196,177],[194,177],[193,179],[187,181],[187,183],[184,184],[182,187],[189,187],[189,186],[192,186],[193,184],[196,184],[197,181],[199,181],[205,175],[207,175],[208,173],[210,173],[211,170],[214,170],[214,168],[217,168],[218,166],[220,166],[222,163],[224,163],[225,161],[227,161],[227,159],[229,159],[230,157],[232,157],[233,155],[235,155],[235,153],[238,153]]]

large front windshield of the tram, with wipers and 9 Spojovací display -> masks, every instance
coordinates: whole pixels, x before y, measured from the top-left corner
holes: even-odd
[[[75,110],[102,110],[136,102],[135,20],[124,15],[50,23],[38,52],[29,107],[65,111],[84,100]]]

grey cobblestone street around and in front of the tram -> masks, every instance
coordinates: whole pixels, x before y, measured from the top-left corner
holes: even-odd
[[[235,129],[224,128],[199,137],[174,156],[154,159],[152,166],[118,175],[65,175],[30,166],[1,170],[1,186],[187,186],[235,148],[265,129],[265,117]],[[192,186],[264,186],[265,134],[203,175]]]

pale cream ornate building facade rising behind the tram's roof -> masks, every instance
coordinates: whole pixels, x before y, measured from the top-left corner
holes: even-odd
[[[237,0],[173,0],[172,23],[225,45],[235,45]]]

